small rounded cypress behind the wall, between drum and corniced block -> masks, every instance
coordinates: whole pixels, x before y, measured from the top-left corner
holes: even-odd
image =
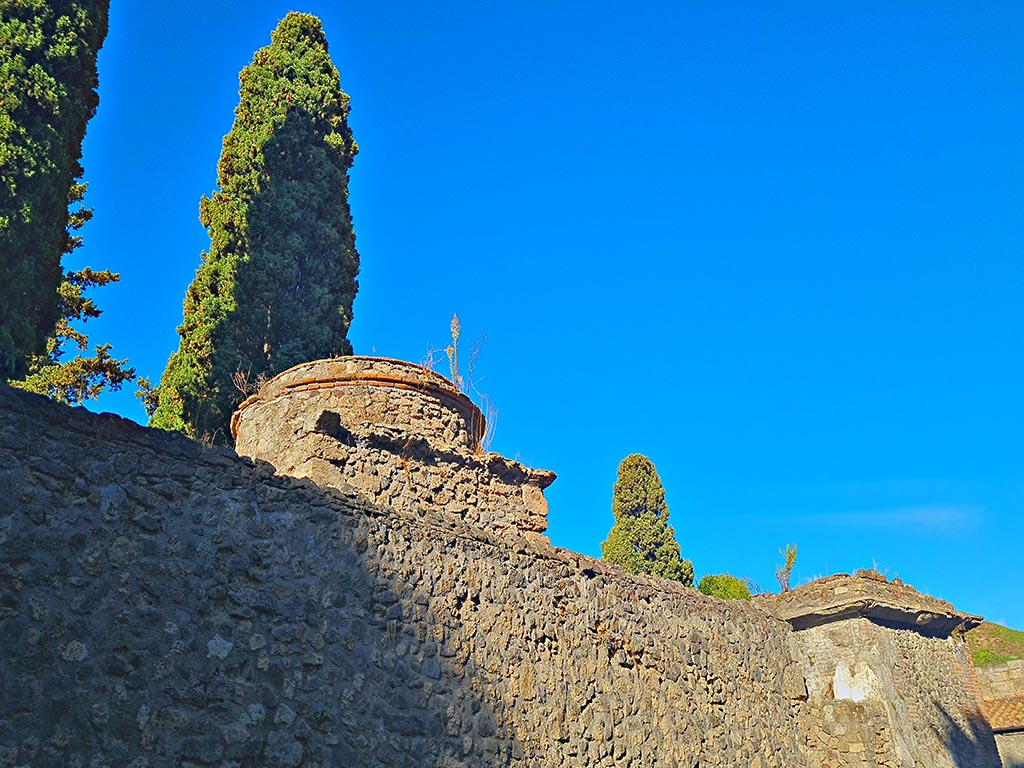
[[[601,544],[605,560],[693,586],[693,564],[680,556],[662,478],[646,456],[633,454],[618,465],[611,511],[615,522]]]

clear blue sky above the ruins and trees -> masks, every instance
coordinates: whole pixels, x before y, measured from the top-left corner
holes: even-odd
[[[1024,629],[1024,5],[114,0],[93,340],[155,380],[238,73],[319,15],[360,146],[357,353],[486,334],[494,449],[598,556],[628,454],[698,578],[877,565]],[[131,392],[96,410],[144,421]]]

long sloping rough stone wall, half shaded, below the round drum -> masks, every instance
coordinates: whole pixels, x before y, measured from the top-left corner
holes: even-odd
[[[819,766],[756,606],[3,388],[0,489],[0,766]]]

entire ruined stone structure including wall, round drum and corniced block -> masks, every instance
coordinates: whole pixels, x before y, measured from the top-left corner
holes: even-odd
[[[997,765],[976,617],[552,548],[453,391],[294,369],[236,420],[271,466],[0,388],[0,766]]]

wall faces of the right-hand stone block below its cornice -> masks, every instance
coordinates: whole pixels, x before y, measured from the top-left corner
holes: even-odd
[[[795,633],[822,765],[995,766],[963,640],[857,617]]]

